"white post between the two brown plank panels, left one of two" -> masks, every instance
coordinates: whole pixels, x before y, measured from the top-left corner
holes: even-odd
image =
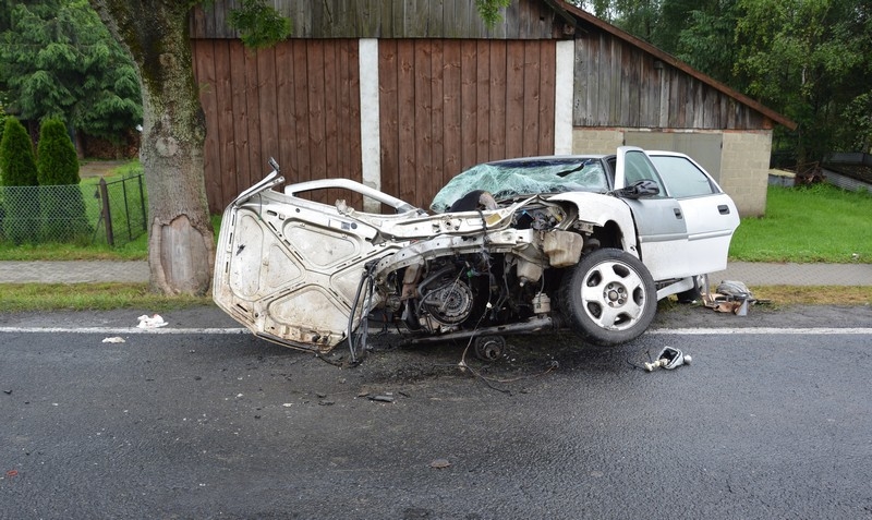
[[[378,39],[363,38],[358,44],[361,76],[361,160],[363,183],[382,191],[382,137],[378,132]],[[364,198],[363,210],[379,213],[382,205]]]

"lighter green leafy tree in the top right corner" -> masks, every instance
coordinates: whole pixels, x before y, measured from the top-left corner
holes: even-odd
[[[870,0],[738,0],[736,64],[744,89],[800,123],[798,160],[851,146],[850,107],[872,94]],[[863,109],[861,109],[863,110]],[[862,132],[862,128],[855,131]],[[843,135],[843,140],[839,136]]]

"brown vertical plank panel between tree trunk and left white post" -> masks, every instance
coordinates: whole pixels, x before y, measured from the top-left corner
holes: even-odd
[[[289,40],[256,52],[239,40],[193,46],[213,213],[261,180],[269,157],[289,183],[361,180],[358,40]]]

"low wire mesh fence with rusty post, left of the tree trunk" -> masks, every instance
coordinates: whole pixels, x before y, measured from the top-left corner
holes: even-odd
[[[143,176],[98,184],[0,186],[0,241],[131,242],[148,229]]]

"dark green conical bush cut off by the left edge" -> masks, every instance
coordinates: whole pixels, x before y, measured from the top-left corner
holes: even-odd
[[[0,142],[0,171],[4,193],[4,240],[15,244],[35,242],[39,222],[37,174],[31,137],[21,121],[7,118]]]

